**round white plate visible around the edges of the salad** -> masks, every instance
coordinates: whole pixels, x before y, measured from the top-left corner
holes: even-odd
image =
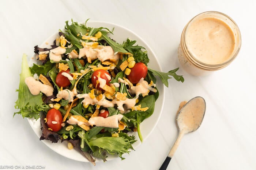
[[[114,28],[114,32],[113,32],[114,35],[109,34],[109,37],[116,40],[117,43],[120,43],[120,44],[123,43],[123,41],[126,41],[127,38],[129,38],[130,40],[136,40],[137,41],[136,44],[138,44],[139,46],[145,47],[147,50],[148,58],[150,59],[150,62],[148,63],[148,67],[152,68],[154,70],[161,71],[159,63],[157,61],[157,57],[155,56],[155,54],[151,50],[151,48],[147,45],[147,43],[144,40],[142,40],[142,38],[140,38],[138,35],[136,35],[132,31],[130,31],[129,29],[124,28],[120,25],[102,22],[102,21],[88,21],[87,26],[94,27],[94,28],[106,27],[106,28],[109,28],[110,30],[112,28]],[[57,36],[58,36],[58,32],[55,33],[54,35],[50,36],[48,39],[46,39],[44,41],[44,43],[42,43],[41,46],[39,46],[39,47],[48,47],[49,48]],[[46,42],[49,44],[46,45]],[[35,59],[32,59],[30,61],[30,63],[34,63],[34,62],[36,62]],[[157,88],[159,91],[159,98],[155,102],[154,113],[140,124],[140,130],[141,130],[141,133],[143,136],[143,141],[145,141],[147,139],[147,137],[150,135],[150,133],[153,131],[153,129],[157,125],[157,122],[161,116],[162,109],[163,109],[165,89],[164,89],[163,83],[161,82],[161,80],[158,77],[157,77],[156,85],[157,85]],[[38,140],[39,140],[39,137],[41,137],[41,134],[42,134],[41,129],[40,129],[41,128],[40,119],[38,119],[37,121],[35,119],[28,119],[28,121],[30,123],[30,126],[34,130],[35,134],[37,134]],[[137,142],[133,143],[132,146],[134,149],[136,149],[136,147],[142,145],[143,143],[140,142],[140,139],[139,139],[137,133],[133,133],[133,135],[135,136]],[[67,142],[61,143],[59,141],[58,143],[51,143],[50,141],[46,141],[46,140],[42,140],[42,142],[44,142],[45,145],[47,145],[50,149],[52,149],[53,151],[57,152],[60,155],[63,155],[64,157],[74,159],[76,161],[89,162],[86,158],[84,158],[75,149],[69,150],[67,148]],[[126,154],[126,156],[127,156],[127,154]],[[110,160],[116,159],[116,158],[119,158],[119,157],[117,155],[108,155],[107,160],[110,161]],[[102,160],[97,159],[96,162],[98,162],[98,161],[102,161]]]

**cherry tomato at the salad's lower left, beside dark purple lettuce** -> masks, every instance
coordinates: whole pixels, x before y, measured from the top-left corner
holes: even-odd
[[[57,132],[61,129],[63,118],[59,110],[56,110],[55,108],[50,109],[47,112],[46,119],[46,124],[52,131]]]

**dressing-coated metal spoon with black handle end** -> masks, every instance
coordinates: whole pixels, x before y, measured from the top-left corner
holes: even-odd
[[[193,132],[199,128],[203,121],[205,110],[206,103],[202,97],[195,97],[189,100],[180,109],[176,118],[179,127],[179,135],[159,170],[166,170],[183,135]]]

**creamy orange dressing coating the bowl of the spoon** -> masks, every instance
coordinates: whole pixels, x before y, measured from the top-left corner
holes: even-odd
[[[183,103],[182,103],[183,104]],[[177,116],[177,124],[184,133],[195,131],[202,123],[206,104],[203,98],[191,99]]]

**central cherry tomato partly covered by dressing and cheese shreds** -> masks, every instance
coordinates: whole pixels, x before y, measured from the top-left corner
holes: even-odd
[[[109,83],[110,80],[111,80],[110,74],[105,70],[96,70],[96,71],[93,72],[93,75],[91,76],[91,82],[93,83],[94,88],[97,88],[98,90],[102,90],[102,88],[99,87],[99,83],[97,84],[97,80],[98,80],[97,76],[99,74],[100,74],[99,77],[106,80],[106,84],[108,86],[110,86],[110,83]],[[109,75],[109,76],[106,76],[106,75]],[[96,84],[97,84],[97,87],[96,87]]]

